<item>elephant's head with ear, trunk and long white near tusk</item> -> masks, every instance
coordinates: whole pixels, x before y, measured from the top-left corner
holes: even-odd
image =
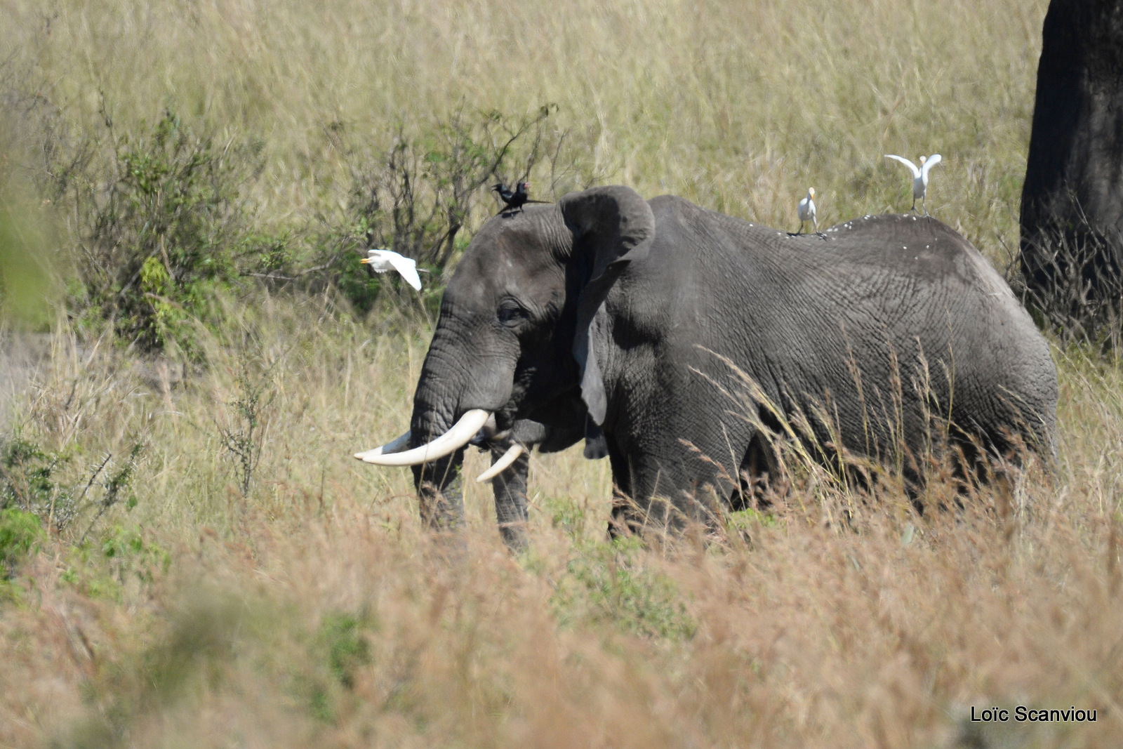
[[[585,422],[586,408],[601,423],[606,398],[590,326],[621,270],[654,236],[650,207],[622,186],[492,218],[445,290],[410,430],[355,457],[413,466],[422,518],[450,528],[463,515],[464,448],[491,420],[515,442],[564,436],[553,449],[579,439],[575,424]]]

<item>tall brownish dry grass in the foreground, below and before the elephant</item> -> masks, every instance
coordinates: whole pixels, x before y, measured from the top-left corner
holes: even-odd
[[[147,451],[135,508],[93,542],[45,539],[9,584],[0,746],[1123,737],[1119,363],[1056,351],[1060,465],[1021,509],[984,490],[919,518],[893,487],[803,485],[716,540],[610,545],[605,462],[569,451],[536,457],[531,550],[512,558],[484,487],[468,482],[449,544],[421,530],[408,471],[348,457],[408,419],[426,341],[325,312],[259,299],[246,342],[185,383],[112,348],[44,363],[25,436],[92,456],[143,433]],[[275,399],[243,496],[219,427],[246,357]],[[989,705],[1097,721],[970,722]]]

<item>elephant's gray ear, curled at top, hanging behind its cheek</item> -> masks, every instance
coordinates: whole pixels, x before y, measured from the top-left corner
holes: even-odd
[[[577,331],[573,354],[581,368],[581,395],[588,414],[604,423],[608,398],[593,346],[594,319],[604,307],[612,284],[632,261],[647,256],[655,238],[655,214],[638,192],[622,185],[573,192],[559,202],[566,227],[573,232],[570,262],[591,265],[588,282],[577,300]]]

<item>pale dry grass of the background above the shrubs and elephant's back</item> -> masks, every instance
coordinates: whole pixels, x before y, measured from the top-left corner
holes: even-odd
[[[345,197],[340,137],[553,102],[581,164],[559,191],[622,182],[788,226],[814,185],[829,223],[907,208],[883,154],[939,152],[929,207],[997,257],[1016,246],[1046,4],[8,0],[0,58],[89,128],[102,102],[119,128],[173,102],[259,138],[255,198],[277,222]]]

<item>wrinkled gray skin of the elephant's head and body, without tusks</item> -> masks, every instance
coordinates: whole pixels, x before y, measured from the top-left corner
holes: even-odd
[[[883,459],[902,441],[921,455],[929,414],[950,417],[953,440],[994,454],[1012,436],[1054,450],[1048,346],[949,227],[875,216],[792,237],[622,186],[528,205],[480,230],[445,292],[413,444],[469,409],[496,412],[500,431],[522,418],[572,430],[584,403],[618,497],[631,497],[615,503],[620,523],[704,520],[711,502],[737,502],[741,472],[767,469],[760,424],[776,426],[743,398],[730,364],[785,415],[811,417],[800,438],[824,460],[839,440]],[[414,468],[436,528],[460,520],[456,493],[442,490],[462,457]],[[515,476],[524,492],[524,473]]]

